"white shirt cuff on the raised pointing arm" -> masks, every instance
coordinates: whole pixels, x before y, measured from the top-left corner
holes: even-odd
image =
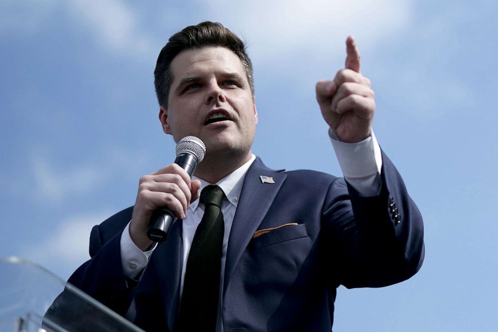
[[[330,141],[344,174],[344,179],[361,195],[376,196],[381,189],[381,148],[372,131],[370,137],[361,142],[345,143],[329,130]]]

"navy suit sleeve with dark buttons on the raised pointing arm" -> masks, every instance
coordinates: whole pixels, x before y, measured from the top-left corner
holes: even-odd
[[[413,276],[424,259],[420,211],[384,152],[382,159],[379,195],[362,197],[336,179],[322,211],[338,262],[333,275],[347,288],[401,282]]]

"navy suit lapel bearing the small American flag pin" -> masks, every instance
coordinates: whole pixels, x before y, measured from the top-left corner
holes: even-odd
[[[262,183],[260,175],[273,177],[275,183]],[[247,170],[228,239],[223,295],[240,256],[263,221],[286,177],[284,173],[267,168],[259,157]]]

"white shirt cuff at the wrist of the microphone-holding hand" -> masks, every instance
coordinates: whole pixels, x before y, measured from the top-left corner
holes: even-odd
[[[130,223],[126,226],[121,234],[121,265],[123,273],[130,279],[135,279],[149,263],[149,257],[156,248],[157,243],[149,251],[142,251],[130,237]]]

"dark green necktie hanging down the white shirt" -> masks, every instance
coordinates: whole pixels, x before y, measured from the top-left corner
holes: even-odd
[[[202,189],[199,199],[204,215],[195,231],[187,260],[180,305],[181,331],[214,331],[218,312],[221,250],[225,225],[221,202],[223,190],[216,185]]]

